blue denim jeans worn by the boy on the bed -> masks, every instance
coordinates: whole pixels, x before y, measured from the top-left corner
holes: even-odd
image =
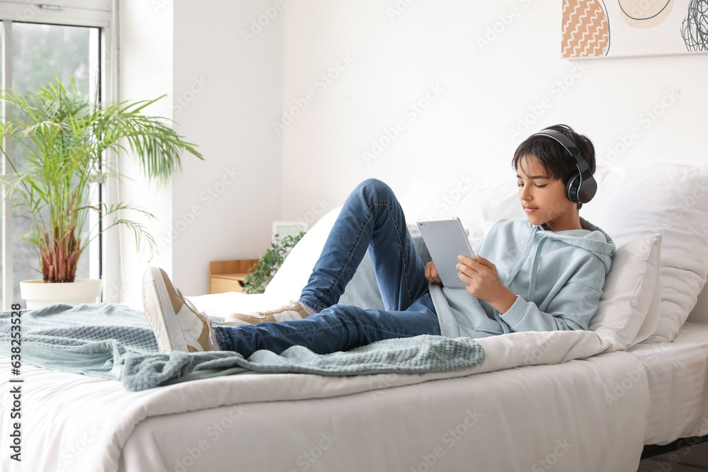
[[[367,248],[384,310],[337,304]],[[261,349],[280,354],[294,345],[326,354],[390,338],[440,335],[425,265],[388,185],[368,179],[351,192],[299,302],[316,314],[297,321],[215,326],[219,346],[244,357]]]

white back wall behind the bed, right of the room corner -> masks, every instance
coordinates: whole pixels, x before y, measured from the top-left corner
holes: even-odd
[[[282,132],[282,217],[303,218],[317,199],[341,205],[367,177],[428,202],[441,196],[428,178],[515,182],[515,147],[559,122],[588,134],[598,161],[708,162],[708,55],[571,62],[559,58],[560,18],[560,1],[290,1],[285,107],[341,54],[353,62]],[[413,110],[428,91],[428,108]],[[654,107],[655,121],[645,115]],[[624,153],[609,154],[634,128]],[[367,162],[362,152],[387,144],[387,130],[395,139]]]

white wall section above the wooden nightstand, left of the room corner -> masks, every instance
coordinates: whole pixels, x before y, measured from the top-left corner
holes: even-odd
[[[244,38],[251,28],[257,34]],[[188,156],[173,180],[172,275],[185,295],[208,293],[210,260],[258,258],[270,243],[280,215],[270,117],[282,102],[282,44],[273,0],[174,3],[174,129],[205,157]]]

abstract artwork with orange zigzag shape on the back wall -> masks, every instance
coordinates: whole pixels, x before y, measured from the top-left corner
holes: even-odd
[[[561,56],[708,51],[708,0],[563,0]]]

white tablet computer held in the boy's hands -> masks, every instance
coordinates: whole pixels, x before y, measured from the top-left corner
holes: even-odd
[[[462,254],[472,259],[476,256],[459,218],[421,219],[418,221],[418,228],[421,230],[423,241],[426,241],[442,284],[450,288],[464,288],[464,282],[457,277],[457,256]]]

